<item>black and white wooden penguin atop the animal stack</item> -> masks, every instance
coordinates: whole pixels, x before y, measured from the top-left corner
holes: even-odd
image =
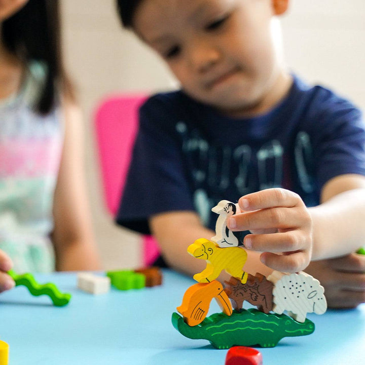
[[[236,212],[241,212],[238,204],[231,203],[228,200],[221,200],[211,210],[219,214],[215,223],[215,236],[211,238],[211,241],[220,247],[242,246],[243,242],[239,239],[240,232],[233,232],[227,227],[227,218],[236,214]]]

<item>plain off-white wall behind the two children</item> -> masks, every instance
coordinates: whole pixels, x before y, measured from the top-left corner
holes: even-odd
[[[139,237],[116,227],[102,203],[93,114],[105,95],[153,92],[176,83],[153,52],[121,29],[114,0],[61,0],[61,6],[66,65],[85,115],[86,173],[96,239],[105,268],[136,267]],[[364,19],[363,0],[292,1],[281,19],[288,66],[365,108]]]

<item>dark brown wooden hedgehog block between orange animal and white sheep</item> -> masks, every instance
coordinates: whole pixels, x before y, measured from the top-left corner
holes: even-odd
[[[233,308],[240,311],[243,301],[257,306],[264,313],[272,310],[272,290],[273,283],[260,273],[256,275],[248,274],[247,281],[241,281],[231,276],[229,281],[225,281],[225,291],[232,300]]]

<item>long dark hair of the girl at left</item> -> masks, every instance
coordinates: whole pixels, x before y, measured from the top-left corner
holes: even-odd
[[[65,75],[61,54],[61,34],[58,0],[29,0],[2,24],[2,42],[22,63],[31,60],[47,65],[47,76],[36,111],[47,114],[62,91],[75,99]]]

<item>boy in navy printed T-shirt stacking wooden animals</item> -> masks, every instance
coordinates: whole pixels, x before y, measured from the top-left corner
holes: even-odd
[[[140,109],[117,222],[151,230],[168,265],[194,274],[202,262],[187,246],[214,236],[214,205],[243,195],[228,226],[248,233],[245,271],[297,272],[313,260],[306,271],[330,306],[364,302],[365,258],[353,252],[365,240],[365,128],[348,101],[285,69],[272,20],[288,0],[118,5],[181,90]]]

